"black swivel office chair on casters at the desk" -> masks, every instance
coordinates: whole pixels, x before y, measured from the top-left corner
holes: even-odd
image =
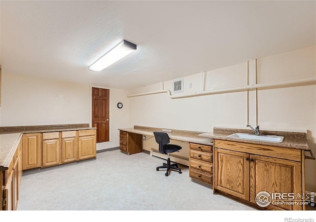
[[[163,163],[162,166],[157,167],[157,171],[159,169],[167,169],[167,172],[164,174],[166,176],[169,176],[170,169],[179,171],[179,174],[181,174],[181,169],[178,167],[178,164],[170,164],[170,152],[176,152],[181,149],[180,146],[169,144],[170,139],[167,133],[165,132],[154,132],[156,142],[159,144],[159,152],[163,154],[168,154],[168,160],[167,163]]]

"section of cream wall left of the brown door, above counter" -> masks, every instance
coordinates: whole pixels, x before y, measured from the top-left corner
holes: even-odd
[[[2,70],[1,126],[89,123],[89,85]]]

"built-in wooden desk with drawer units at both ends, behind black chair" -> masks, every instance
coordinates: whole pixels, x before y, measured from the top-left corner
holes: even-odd
[[[169,135],[170,144],[176,144],[182,147],[178,152],[170,153],[170,160],[172,162],[189,166],[189,175],[191,178],[212,185],[213,140],[198,136],[205,132],[145,126],[119,129],[120,150],[129,155],[146,150],[150,152],[152,156],[167,159],[167,155],[159,152],[158,143],[154,137],[155,131],[167,131],[166,133]]]

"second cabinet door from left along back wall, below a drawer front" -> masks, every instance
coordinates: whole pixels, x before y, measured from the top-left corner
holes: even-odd
[[[60,140],[43,140],[42,167],[54,166],[61,163]]]

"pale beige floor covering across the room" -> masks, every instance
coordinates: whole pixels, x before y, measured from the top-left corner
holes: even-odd
[[[192,182],[187,166],[180,165],[182,174],[164,176],[156,171],[163,162],[113,150],[89,161],[24,171],[18,210],[254,210]]]

